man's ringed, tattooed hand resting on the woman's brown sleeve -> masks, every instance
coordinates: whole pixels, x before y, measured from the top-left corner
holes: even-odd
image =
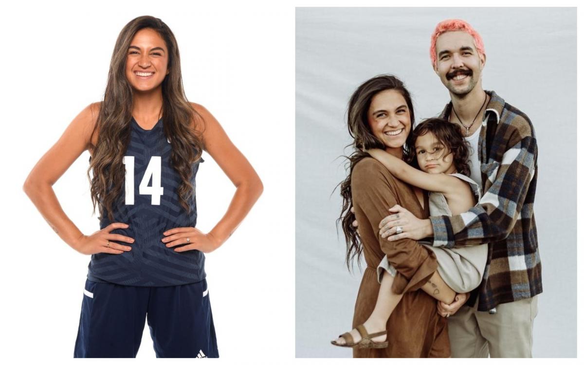
[[[410,213],[409,210],[395,205],[390,208],[391,215],[383,218],[379,223],[379,234],[388,241],[397,241],[409,238],[419,239],[432,236],[432,223],[428,219],[420,219]]]

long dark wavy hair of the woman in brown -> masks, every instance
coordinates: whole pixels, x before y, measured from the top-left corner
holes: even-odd
[[[343,233],[345,234],[345,242],[347,246],[346,263],[349,270],[350,262],[352,262],[354,258],[357,258],[357,264],[359,265],[361,253],[363,252],[363,245],[361,245],[360,238],[357,235],[357,229],[356,227],[353,227],[355,215],[351,211],[351,208],[353,208],[351,174],[353,173],[353,168],[357,162],[365,157],[369,157],[369,154],[362,152],[363,148],[366,150],[370,150],[371,148],[381,148],[382,150],[385,150],[386,148],[383,141],[375,137],[371,131],[367,118],[371,99],[385,90],[395,90],[404,96],[409,109],[410,123],[412,123],[413,126],[414,116],[412,98],[409,95],[408,89],[405,88],[404,83],[393,75],[379,75],[367,80],[353,92],[353,95],[349,100],[347,127],[349,127],[349,134],[353,137],[353,142],[347,145],[347,147],[352,147],[353,153],[350,154],[349,157],[346,157],[349,160],[347,161],[347,178],[339,183],[340,195],[343,197],[343,207],[339,219],[337,220],[337,224],[339,224],[339,222],[341,223]],[[404,159],[406,161],[411,159],[410,156],[413,155],[414,152],[411,148],[408,148],[409,145],[412,145],[411,141],[412,129],[410,129],[410,133],[404,144]]]

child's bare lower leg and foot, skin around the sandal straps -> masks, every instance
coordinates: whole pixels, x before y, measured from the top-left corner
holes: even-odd
[[[377,294],[377,302],[375,308],[367,320],[363,323],[363,326],[367,330],[367,333],[376,333],[385,331],[387,326],[387,320],[390,319],[391,312],[394,311],[395,307],[398,305],[403,294],[395,294],[391,290],[391,285],[394,282],[394,277],[388,274],[386,271],[383,273],[383,278],[381,279],[381,286],[379,288],[379,294]],[[350,332],[353,336],[355,342],[359,342],[361,335],[357,329]],[[381,335],[372,338],[374,342],[384,342],[387,338],[386,335]],[[336,339],[339,344],[344,344],[345,339],[339,337]]]

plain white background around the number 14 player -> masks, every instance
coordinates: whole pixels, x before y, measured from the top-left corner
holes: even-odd
[[[70,121],[102,100],[116,37],[141,15],[171,27],[187,98],[214,114],[265,186],[238,230],[206,255],[220,356],[294,357],[294,11],[188,4],[39,2],[2,10],[0,326],[9,335],[2,339],[3,359],[73,356],[90,256],[57,237],[22,185]],[[203,158],[197,228],[208,231],[235,188],[209,155]],[[84,152],[54,185],[65,213],[84,234],[99,230],[88,159]],[[288,315],[274,320],[282,313]],[[282,326],[288,331],[266,336]],[[261,351],[253,338],[262,339]],[[154,357],[146,325],[138,358]]]

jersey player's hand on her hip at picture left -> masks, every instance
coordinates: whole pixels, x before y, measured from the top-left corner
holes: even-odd
[[[128,228],[126,223],[112,223],[103,230],[96,231],[91,236],[82,235],[74,244],[74,248],[85,255],[93,255],[94,253],[114,253],[119,254],[131,251],[131,247],[116,244],[116,242],[126,242],[128,244],[134,243],[134,238],[127,237],[121,234],[112,234],[113,230]]]

